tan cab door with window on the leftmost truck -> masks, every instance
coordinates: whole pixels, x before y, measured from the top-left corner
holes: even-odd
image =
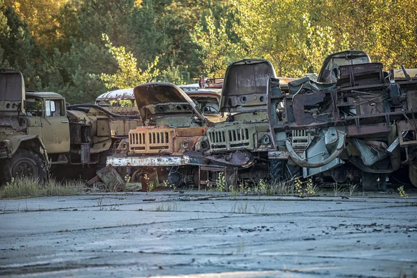
[[[63,99],[46,99],[42,140],[48,154],[70,152],[70,124]]]

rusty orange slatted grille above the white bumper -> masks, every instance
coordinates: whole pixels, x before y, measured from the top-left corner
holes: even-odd
[[[129,131],[129,148],[133,153],[150,153],[152,151],[172,152],[170,145],[174,129],[135,129]]]

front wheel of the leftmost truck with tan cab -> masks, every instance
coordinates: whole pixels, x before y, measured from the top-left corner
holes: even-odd
[[[6,173],[10,179],[16,177],[34,177],[44,179],[46,172],[44,161],[33,151],[19,149],[6,163]]]

